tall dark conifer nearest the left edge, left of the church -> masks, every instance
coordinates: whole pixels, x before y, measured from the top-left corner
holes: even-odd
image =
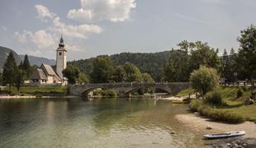
[[[6,62],[3,65],[2,72],[2,83],[3,85],[9,86],[9,92],[11,93],[11,87],[16,82],[17,76],[17,63],[15,62],[15,58],[13,53],[9,53]]]

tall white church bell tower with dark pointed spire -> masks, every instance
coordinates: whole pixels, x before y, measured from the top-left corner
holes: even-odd
[[[62,80],[64,79],[62,71],[67,67],[67,50],[64,47],[64,39],[61,35],[59,48],[56,50],[56,72]]]

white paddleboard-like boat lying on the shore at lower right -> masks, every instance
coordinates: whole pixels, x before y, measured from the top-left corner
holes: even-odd
[[[243,136],[245,134],[244,131],[239,132],[224,132],[224,133],[218,133],[218,134],[208,134],[204,135],[207,139],[217,139],[217,138],[226,138],[226,137],[232,137],[232,136]]]

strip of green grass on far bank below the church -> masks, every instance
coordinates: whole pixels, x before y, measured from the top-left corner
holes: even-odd
[[[9,88],[6,87],[5,90]],[[35,93],[65,93],[66,86],[21,86],[21,94],[35,94]],[[17,88],[12,86],[12,93],[17,94]]]

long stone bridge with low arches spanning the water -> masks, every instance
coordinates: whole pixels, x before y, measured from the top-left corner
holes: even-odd
[[[119,96],[129,96],[131,91],[140,88],[154,87],[155,89],[167,91],[170,94],[177,94],[178,91],[189,87],[188,82],[170,82],[170,83],[98,83],[87,85],[70,85],[69,95],[88,95],[92,90],[98,88],[116,90]]]

